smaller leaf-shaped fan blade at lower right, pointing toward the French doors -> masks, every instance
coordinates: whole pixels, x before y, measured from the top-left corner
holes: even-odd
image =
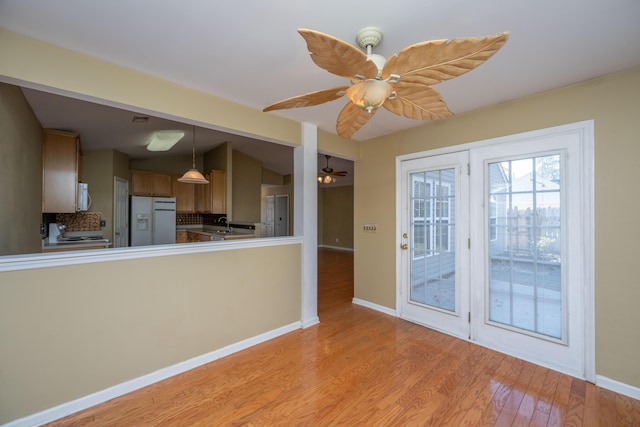
[[[440,93],[431,86],[407,84],[400,80],[395,90],[398,96],[382,104],[392,113],[415,120],[437,120],[453,115]]]

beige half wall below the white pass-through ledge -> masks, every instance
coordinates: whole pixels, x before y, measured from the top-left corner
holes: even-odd
[[[289,244],[0,273],[0,424],[299,322],[301,264]]]

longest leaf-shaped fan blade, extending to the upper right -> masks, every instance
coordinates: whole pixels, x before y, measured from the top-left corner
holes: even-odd
[[[385,64],[383,75],[398,74],[404,82],[431,86],[473,70],[491,58],[509,38],[493,36],[432,40],[407,46],[395,61]]]

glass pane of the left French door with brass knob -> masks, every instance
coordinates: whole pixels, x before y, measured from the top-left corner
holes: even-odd
[[[455,311],[455,169],[411,179],[409,300]]]

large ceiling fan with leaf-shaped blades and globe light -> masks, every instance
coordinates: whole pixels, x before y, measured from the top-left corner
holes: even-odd
[[[486,37],[425,41],[385,59],[371,53],[382,40],[382,30],[376,27],[363,28],[356,36],[366,54],[319,31],[301,28],[298,32],[306,40],[313,62],[349,79],[351,85],[287,98],[263,111],[320,105],[346,95],[350,102],[338,115],[336,130],[347,139],[380,107],[416,120],[453,115],[432,85],[471,71],[500,50],[509,38],[509,33],[503,32]]]

